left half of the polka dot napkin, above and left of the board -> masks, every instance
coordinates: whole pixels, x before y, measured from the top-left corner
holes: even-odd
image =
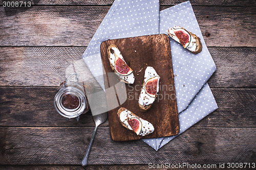
[[[82,59],[104,88],[100,44],[108,39],[158,34],[159,1],[116,0],[90,41]],[[100,62],[99,66],[95,66]],[[92,64],[94,63],[94,65]]]

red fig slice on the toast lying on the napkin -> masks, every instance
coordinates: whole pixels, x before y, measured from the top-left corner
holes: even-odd
[[[183,45],[184,48],[186,48],[190,41],[191,41],[191,35],[184,29],[182,28],[173,28],[174,29],[174,33],[176,35],[176,37],[179,39],[181,45]]]

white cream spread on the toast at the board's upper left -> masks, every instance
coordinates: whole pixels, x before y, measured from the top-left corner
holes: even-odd
[[[120,57],[123,61],[124,61],[124,59],[123,59],[122,54],[118,50],[118,48],[111,47],[111,49],[114,50],[115,53],[114,54],[110,53],[110,63],[111,63],[111,65],[113,65],[113,67],[115,67],[115,59],[116,59],[115,55]],[[126,62],[125,62],[125,64],[126,64]],[[134,78],[133,72],[130,75],[127,75],[127,76],[120,75],[120,74],[118,74],[118,72],[116,72],[116,75],[119,76],[120,79],[123,79],[126,82],[128,82],[129,84],[133,84],[134,83],[135,78]]]

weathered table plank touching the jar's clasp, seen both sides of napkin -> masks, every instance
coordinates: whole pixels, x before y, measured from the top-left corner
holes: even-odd
[[[0,86],[59,86],[66,75],[99,86],[81,59],[86,47],[0,47]],[[209,47],[217,70],[212,88],[255,88],[256,48]]]

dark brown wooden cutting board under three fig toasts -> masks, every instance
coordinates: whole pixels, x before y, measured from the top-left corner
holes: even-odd
[[[178,134],[180,130],[179,117],[168,36],[166,34],[158,34],[103,41],[100,45],[103,72],[114,72],[111,69],[107,53],[107,49],[111,44],[115,44],[118,47],[127,65],[133,69],[135,76],[134,84],[125,84],[127,100],[119,107],[108,111],[111,138],[115,141],[128,141]],[[160,90],[152,108],[146,112],[141,112],[139,111],[138,98],[144,80],[144,71],[147,66],[154,67],[160,76]],[[108,82],[110,79],[108,79],[106,74],[104,75],[104,80],[105,87],[109,88],[111,82]],[[118,95],[116,96],[118,98]],[[116,96],[107,94],[107,100],[114,101]],[[131,130],[127,130],[121,125],[117,116],[117,111],[120,107],[131,110],[141,118],[152,123],[155,131],[150,135],[142,137],[137,136]]]

